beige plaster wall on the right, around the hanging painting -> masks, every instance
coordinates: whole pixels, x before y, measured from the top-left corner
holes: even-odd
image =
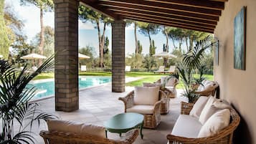
[[[234,17],[247,6],[246,70],[234,69]],[[219,65],[214,64],[214,80],[220,97],[240,113],[241,123],[234,143],[256,143],[256,0],[229,0],[214,32],[219,39]]]

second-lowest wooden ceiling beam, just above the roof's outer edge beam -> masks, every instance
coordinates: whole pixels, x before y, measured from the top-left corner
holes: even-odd
[[[166,23],[172,23],[172,24],[181,24],[184,26],[188,26],[188,27],[202,27],[205,29],[215,29],[215,26],[212,25],[208,25],[208,24],[196,24],[194,22],[188,22],[188,21],[180,21],[180,20],[166,20],[166,19],[159,19],[156,16],[144,16],[143,14],[129,14],[129,13],[116,13],[116,14],[120,14],[122,16],[128,16],[128,17],[138,17],[141,19],[147,19],[147,20],[152,20],[152,21],[162,21],[162,22],[166,22]]]

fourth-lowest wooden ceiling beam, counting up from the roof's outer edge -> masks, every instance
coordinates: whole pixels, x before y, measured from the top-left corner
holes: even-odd
[[[103,6],[104,9],[126,9],[128,10],[137,10],[141,11],[142,13],[144,11],[148,12],[153,12],[155,14],[169,14],[169,15],[174,15],[174,16],[184,16],[184,17],[189,17],[193,19],[203,19],[207,21],[219,21],[219,16],[207,16],[204,14],[193,14],[189,12],[184,12],[184,11],[173,11],[173,10],[166,10],[166,9],[154,9],[151,7],[143,7],[143,6],[123,6],[123,4],[115,4],[115,5],[110,5],[110,4],[100,4]]]

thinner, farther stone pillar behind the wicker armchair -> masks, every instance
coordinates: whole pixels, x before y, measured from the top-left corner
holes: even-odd
[[[112,92],[125,91],[125,21],[112,23]]]

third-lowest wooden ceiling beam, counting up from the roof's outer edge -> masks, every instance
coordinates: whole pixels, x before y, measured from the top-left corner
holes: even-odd
[[[202,20],[202,19],[194,19],[194,18],[190,18],[190,17],[186,17],[186,16],[176,16],[176,15],[171,15],[171,14],[156,14],[153,13],[151,11],[140,11],[140,10],[134,10],[134,9],[120,9],[120,8],[113,8],[113,9],[109,9],[110,11],[113,11],[114,13],[118,13],[118,12],[124,12],[124,13],[128,13],[128,14],[143,14],[145,16],[154,16],[154,17],[158,17],[158,19],[170,19],[170,20],[177,20],[177,21],[188,21],[188,22],[193,22],[193,23],[197,23],[197,24],[208,24],[208,25],[212,25],[212,26],[216,26],[217,25],[217,21],[209,21],[209,20]]]

